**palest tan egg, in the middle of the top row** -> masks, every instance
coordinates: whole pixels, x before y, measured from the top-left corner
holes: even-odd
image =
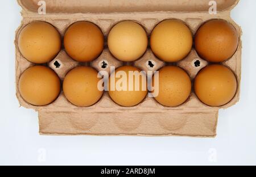
[[[137,60],[146,52],[147,45],[147,33],[138,23],[120,22],[109,32],[108,47],[118,60]]]

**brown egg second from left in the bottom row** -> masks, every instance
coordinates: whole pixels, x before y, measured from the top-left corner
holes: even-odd
[[[79,107],[88,107],[100,100],[103,91],[98,89],[100,78],[95,69],[79,66],[69,71],[63,82],[65,97]]]

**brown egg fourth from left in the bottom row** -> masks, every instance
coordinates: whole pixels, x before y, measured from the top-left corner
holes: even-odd
[[[155,78],[152,85],[155,85]],[[155,100],[167,107],[183,104],[191,94],[191,79],[177,66],[166,66],[159,70],[159,94]]]

